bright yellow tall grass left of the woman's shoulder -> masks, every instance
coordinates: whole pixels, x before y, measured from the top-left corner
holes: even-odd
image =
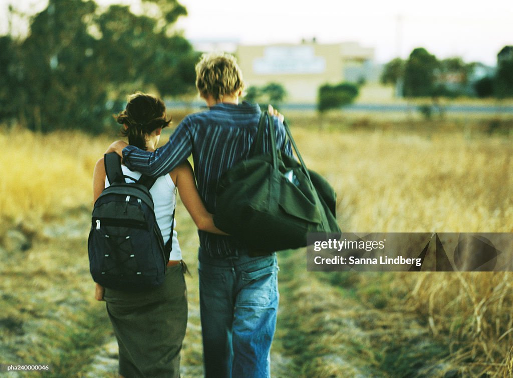
[[[94,164],[109,145],[106,137],[75,132],[0,132],[0,217],[11,221],[61,216],[92,201]]]

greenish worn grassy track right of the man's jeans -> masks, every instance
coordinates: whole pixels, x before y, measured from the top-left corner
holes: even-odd
[[[444,376],[451,370],[447,348],[412,314],[366,305],[323,272],[306,272],[304,253],[280,257],[277,341],[295,376]]]

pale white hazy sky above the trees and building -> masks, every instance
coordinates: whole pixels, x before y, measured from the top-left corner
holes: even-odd
[[[357,41],[372,47],[376,60],[406,58],[424,47],[438,58],[495,65],[497,53],[513,45],[513,0],[180,0],[189,15],[177,27],[191,40],[241,44]],[[8,3],[41,10],[45,0],[0,0],[0,32]],[[115,0],[98,0],[113,3]],[[123,0],[137,3],[138,0]],[[304,3],[305,5],[300,5]]]

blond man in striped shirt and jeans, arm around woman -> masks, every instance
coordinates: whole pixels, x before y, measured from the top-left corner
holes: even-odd
[[[146,152],[118,141],[110,151],[123,150],[129,169],[151,176],[170,172],[192,154],[200,195],[215,213],[218,181],[248,157],[261,111],[239,103],[244,82],[231,55],[204,55],[196,65],[196,88],[209,110],[185,117],[164,146]],[[277,144],[292,155],[283,118],[274,118]],[[266,151],[269,145],[266,132]],[[276,256],[252,258],[234,238],[201,230],[199,236],[205,376],[268,377],[279,300]]]

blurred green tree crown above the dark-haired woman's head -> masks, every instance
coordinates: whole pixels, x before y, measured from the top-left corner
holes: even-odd
[[[157,2],[162,3],[162,2]],[[164,5],[176,2],[164,2]],[[181,15],[183,7],[164,12],[166,20]],[[164,17],[164,16],[162,16]],[[162,96],[176,96],[193,90],[194,64],[199,55],[180,35],[169,35],[161,18],[135,15],[128,6],[113,5],[97,19],[102,38],[98,59],[109,81],[126,92],[129,87],[152,83]],[[159,27],[159,25],[162,25]]]

